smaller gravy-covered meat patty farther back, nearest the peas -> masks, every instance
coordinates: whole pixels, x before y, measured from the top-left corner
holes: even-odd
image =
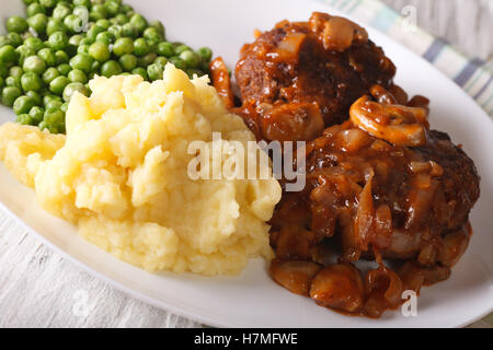
[[[312,140],[347,119],[374,84],[392,86],[395,67],[357,24],[324,13],[278,23],[241,50],[236,78],[242,115],[259,139]]]

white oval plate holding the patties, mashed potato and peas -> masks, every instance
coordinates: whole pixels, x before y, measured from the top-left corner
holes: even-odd
[[[127,2],[149,19],[162,20],[170,39],[193,47],[208,45],[229,67],[238,59],[241,45],[252,40],[254,28],[271,28],[283,19],[307,20],[314,10],[337,13],[307,0]],[[2,22],[7,15],[23,13],[21,0],[0,0],[0,9]],[[383,34],[371,28],[368,32],[399,68],[397,82],[410,93],[431,97],[432,126],[462,143],[482,176],[481,199],[471,217],[472,243],[448,281],[423,290],[417,317],[404,317],[400,312],[388,312],[378,320],[339,315],[276,285],[261,259],[252,260],[237,278],[145,272],[84,242],[71,225],[45,213],[35,203],[33,191],[0,165],[2,207],[48,246],[104,281],[150,304],[213,326],[458,327],[472,323],[493,310],[493,122],[429,63]],[[12,118],[10,109],[0,107],[0,124]]]

